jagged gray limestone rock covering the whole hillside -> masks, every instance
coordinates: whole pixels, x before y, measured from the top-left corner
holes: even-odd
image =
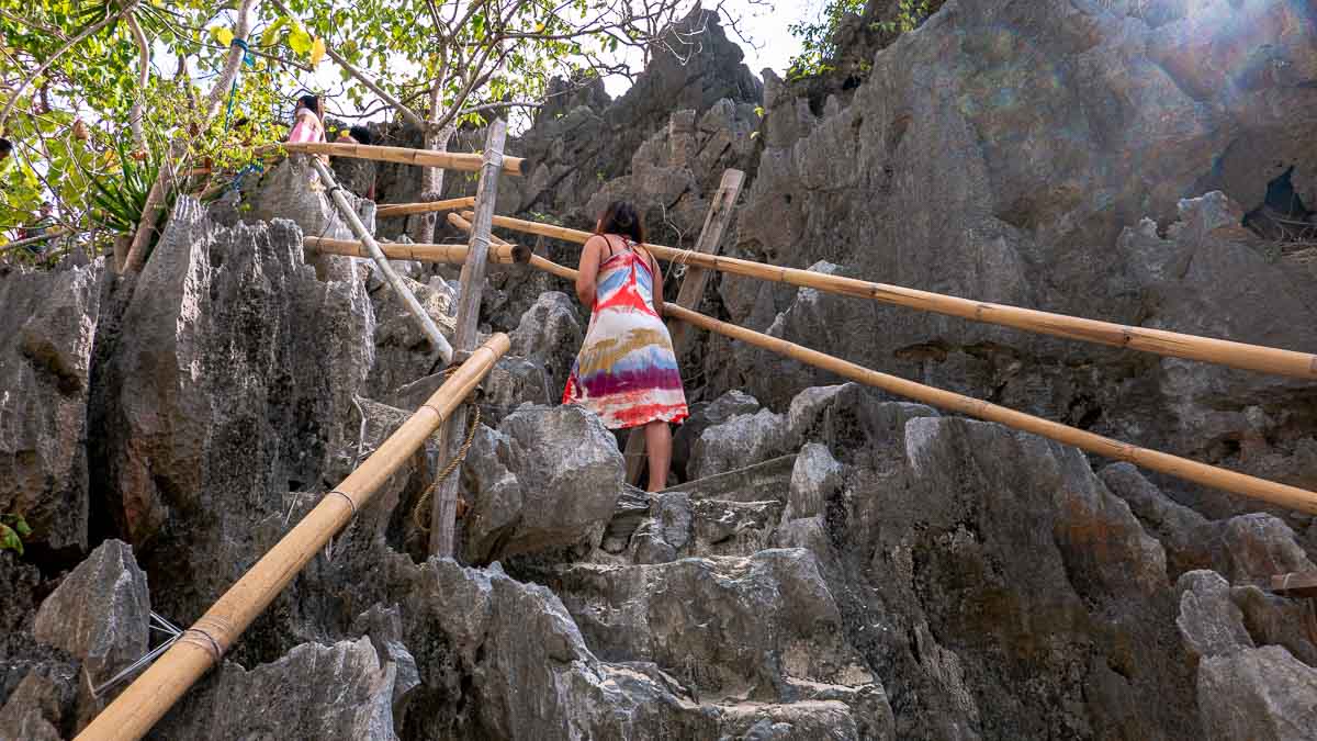
[[[689,244],[739,166],[741,254],[1310,349],[1312,262],[1242,223],[1274,160],[1317,202],[1287,123],[1313,112],[1314,22],[1284,0],[950,0],[894,40],[852,28],[863,80],[770,78],[763,125],[711,29],[710,58],[616,102],[556,99],[500,211],[587,225],[626,195]],[[367,261],[307,261],[302,236],[342,224],[306,175],[246,191],[257,215],[179,199],[137,278],[0,276],[0,512],[36,529],[26,560],[0,552],[0,737],[72,737],[90,687],[154,645],[148,610],[195,620],[443,382]],[[391,166],[378,185],[410,199]],[[396,266],[450,331],[458,286]],[[154,737],[1310,736],[1310,607],[1267,591],[1314,568],[1310,518],[710,339],[680,483],[640,492],[615,438],[557,406],[569,295],[518,268],[482,289],[483,330],[514,341],[453,473],[460,560],[424,558],[431,442]],[[730,278],[705,309],[1317,485],[1304,384]]]

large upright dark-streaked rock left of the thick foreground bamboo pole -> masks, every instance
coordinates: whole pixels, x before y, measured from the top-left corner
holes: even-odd
[[[162,614],[200,614],[263,551],[254,523],[278,531],[288,492],[338,483],[324,477],[357,443],[371,316],[360,280],[315,277],[292,223],[224,228],[178,200],[97,411],[109,509]]]

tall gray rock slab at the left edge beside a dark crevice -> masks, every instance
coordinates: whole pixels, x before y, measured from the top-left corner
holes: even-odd
[[[0,513],[30,543],[87,548],[87,400],[104,261],[0,276]]]

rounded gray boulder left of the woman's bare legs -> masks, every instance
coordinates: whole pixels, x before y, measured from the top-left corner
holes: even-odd
[[[622,493],[612,435],[576,406],[525,406],[483,429],[462,465],[473,563],[553,547],[597,547]]]

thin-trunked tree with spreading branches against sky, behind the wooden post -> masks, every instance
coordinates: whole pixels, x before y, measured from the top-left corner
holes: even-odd
[[[665,34],[694,0],[400,0],[398,3],[317,3],[270,0],[277,9],[261,47],[308,51],[325,40],[348,98],[379,104],[417,127],[425,148],[446,150],[464,124],[485,116],[543,105],[549,80],[589,79],[630,73],[619,63],[632,50],[689,55],[689,37]],[[421,199],[437,200],[443,170],[421,171]],[[417,223],[414,239],[432,241],[435,216]]]

